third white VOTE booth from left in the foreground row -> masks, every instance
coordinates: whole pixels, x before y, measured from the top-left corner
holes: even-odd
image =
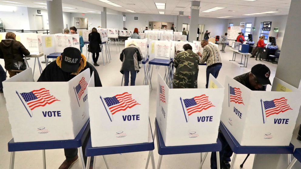
[[[165,146],[216,143],[223,92],[212,75],[208,89],[170,89],[158,74],[156,119]]]

